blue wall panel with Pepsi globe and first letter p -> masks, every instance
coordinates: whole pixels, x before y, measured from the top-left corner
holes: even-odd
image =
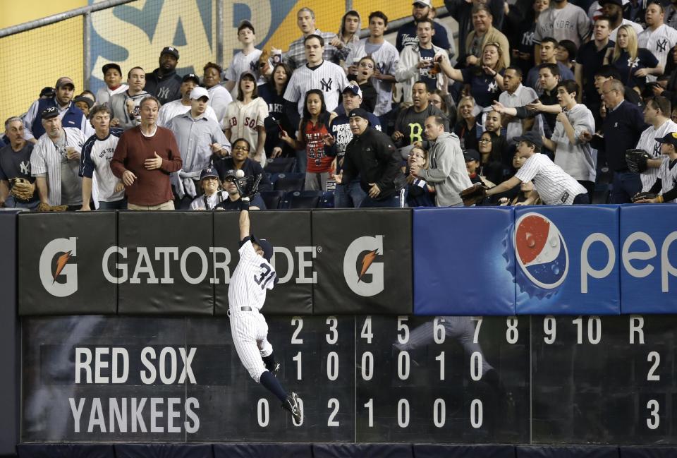
[[[518,315],[621,312],[618,207],[519,207],[514,215]]]

